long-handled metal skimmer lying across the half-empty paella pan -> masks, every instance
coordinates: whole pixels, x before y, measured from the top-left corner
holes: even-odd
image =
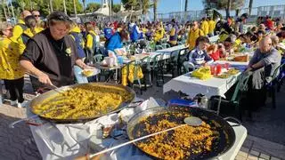
[[[142,137],[137,138],[137,139],[135,139],[135,140],[129,140],[129,141],[125,142],[125,143],[119,144],[119,145],[114,146],[114,147],[112,147],[112,148],[104,149],[104,150],[102,150],[102,151],[100,151],[100,152],[97,152],[97,153],[95,153],[95,154],[93,154],[93,155],[90,155],[90,158],[92,158],[93,156],[101,155],[101,154],[106,153],[106,152],[110,152],[111,150],[114,150],[114,149],[117,149],[117,148],[124,147],[124,146],[126,146],[126,145],[128,145],[128,144],[131,144],[131,143],[134,143],[134,142],[136,142],[136,141],[147,139],[147,138],[149,138],[149,137],[158,135],[158,134],[160,134],[160,133],[162,133],[162,132],[169,132],[169,131],[175,130],[175,129],[177,129],[177,128],[181,128],[181,127],[183,127],[183,126],[186,126],[186,125],[199,126],[200,124],[202,124],[202,120],[201,120],[199,117],[189,116],[189,117],[186,117],[186,118],[184,119],[184,123],[185,123],[185,124],[181,124],[181,125],[178,125],[178,126],[169,128],[169,129],[167,129],[167,130],[163,130],[163,131],[160,131],[160,132],[154,132],[154,133],[151,133],[151,134],[149,134],[149,135],[142,136]]]

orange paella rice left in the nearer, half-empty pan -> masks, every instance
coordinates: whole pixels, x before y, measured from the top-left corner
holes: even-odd
[[[177,114],[177,117],[183,119],[189,114]],[[163,118],[161,118],[163,117]],[[168,114],[160,115],[162,120],[153,123],[151,116],[142,118],[140,124],[143,124],[142,131],[135,134],[143,136],[153,132],[160,132],[168,128],[175,127],[181,123],[173,121],[173,117]],[[159,119],[160,119],[159,118]],[[143,132],[143,135],[142,135]],[[212,149],[213,140],[218,139],[219,132],[211,128],[204,121],[199,127],[183,126],[170,132],[152,136],[148,140],[137,143],[137,146],[151,156],[156,156],[161,159],[188,159],[191,154],[201,154],[210,152]]]

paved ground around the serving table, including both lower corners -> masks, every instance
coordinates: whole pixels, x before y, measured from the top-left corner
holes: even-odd
[[[29,84],[25,85],[25,90],[31,92]],[[179,97],[176,92],[163,95],[162,88],[156,86],[143,92],[142,95],[138,94],[138,97],[144,99],[150,96],[163,100]],[[236,156],[237,160],[275,160],[285,157],[284,97],[285,87],[278,94],[278,107],[275,110],[262,108],[255,114],[253,122],[244,122],[249,135]],[[270,103],[267,106],[270,107]],[[14,129],[8,127],[12,122],[25,117],[24,113],[25,108],[0,106],[0,160],[41,159],[27,124],[18,124]]]

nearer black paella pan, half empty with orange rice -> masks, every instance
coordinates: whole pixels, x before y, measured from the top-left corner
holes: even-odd
[[[198,127],[183,126],[160,133],[134,145],[154,159],[211,159],[227,152],[235,141],[232,126],[220,116],[201,108],[151,108],[134,115],[127,124],[130,140],[183,124],[187,116],[202,121]]]

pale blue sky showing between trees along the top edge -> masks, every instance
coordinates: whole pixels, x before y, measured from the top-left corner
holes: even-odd
[[[248,1],[246,0],[245,8],[248,8]],[[101,3],[101,0],[86,0],[87,3],[96,2]],[[120,0],[114,0],[115,4],[120,3]],[[183,8],[185,0],[182,0]],[[253,7],[265,5],[280,5],[285,4],[284,0],[254,0]],[[202,0],[188,0],[188,10],[202,10]],[[158,12],[178,12],[180,11],[180,0],[159,0]]]

